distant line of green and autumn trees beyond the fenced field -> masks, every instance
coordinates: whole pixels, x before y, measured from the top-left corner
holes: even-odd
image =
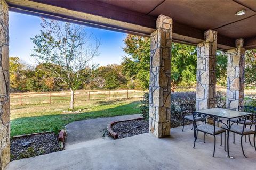
[[[77,89],[148,89],[150,67],[149,38],[127,35],[124,39],[124,52],[121,64],[107,66],[86,66],[81,72],[81,82]],[[173,43],[172,47],[172,91],[176,86],[196,84],[196,47]],[[256,51],[246,52],[246,85],[256,86]],[[57,63],[40,63],[36,66],[22,62],[18,57],[10,57],[10,87],[13,92],[44,92],[68,90],[61,82],[45,69],[58,67]],[[217,52],[217,83],[226,86],[227,55]]]

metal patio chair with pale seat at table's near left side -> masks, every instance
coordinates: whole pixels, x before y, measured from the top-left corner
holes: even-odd
[[[195,112],[193,112],[193,118],[194,120],[196,120],[197,117],[203,117],[203,118],[206,118],[206,115],[203,115],[203,114],[197,114]],[[215,155],[215,147],[216,147],[216,135],[218,134],[221,134],[221,145],[222,146],[222,133],[224,133],[224,150],[226,151],[226,130],[225,129],[222,129],[222,128],[219,128],[218,126],[216,126],[216,117],[212,117],[213,118],[213,125],[211,124],[201,124],[201,125],[198,125],[197,126],[197,123],[195,121],[195,129],[194,129],[194,137],[195,137],[195,140],[194,140],[194,147],[195,148],[195,145],[196,145],[196,140],[197,140],[197,136],[198,136],[198,131],[199,132],[203,132],[204,133],[204,143],[205,143],[205,134],[210,134],[210,135],[213,135],[214,137],[214,149],[213,149],[213,157]]]

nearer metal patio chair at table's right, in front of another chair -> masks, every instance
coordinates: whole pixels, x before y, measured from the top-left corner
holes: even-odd
[[[246,126],[246,121],[251,121],[251,122],[254,122],[254,123],[251,124],[250,128],[246,128],[245,127]],[[241,125],[237,125],[236,123],[237,122],[233,122],[231,124],[230,132],[233,132],[233,134],[236,133],[236,134],[241,135],[241,148],[242,148],[244,157],[246,157],[245,154],[244,154],[244,149],[243,149],[243,136],[246,137],[248,135],[248,138],[249,138],[249,141],[250,141],[250,135],[253,134],[254,149],[256,151],[256,146],[255,146],[256,124],[255,124],[254,115],[243,117],[243,123],[240,123],[240,124],[242,124],[242,126]],[[254,128],[255,128],[254,131],[251,129],[252,125],[254,125]],[[224,125],[222,125],[221,128],[225,129],[225,130],[228,130],[227,127],[224,126]],[[234,136],[234,139],[235,139],[235,136]],[[251,144],[251,141],[250,141],[250,144]]]

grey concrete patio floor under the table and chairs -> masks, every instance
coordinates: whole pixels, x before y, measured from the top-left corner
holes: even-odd
[[[106,140],[105,142],[81,142],[76,147],[10,162],[9,169],[255,169],[256,151],[244,143],[245,158],[238,136],[236,143],[230,142],[230,155],[220,147],[213,154],[213,137],[207,136],[203,143],[198,133],[196,148],[193,149],[191,125],[172,128],[171,137],[157,139],[150,133],[129,138]],[[231,137],[231,136],[230,136]]]

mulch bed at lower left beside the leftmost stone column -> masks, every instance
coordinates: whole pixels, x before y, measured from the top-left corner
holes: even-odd
[[[11,139],[11,160],[34,157],[63,150],[53,132]]]

